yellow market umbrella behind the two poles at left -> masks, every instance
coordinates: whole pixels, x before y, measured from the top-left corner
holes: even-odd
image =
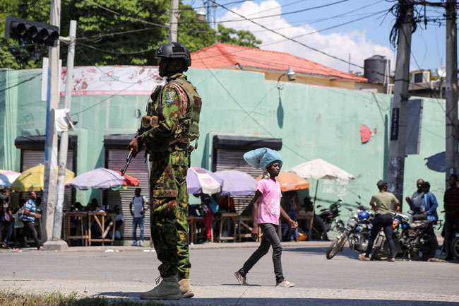
[[[65,182],[72,180],[75,173],[66,169]],[[57,169],[56,169],[57,181]],[[36,165],[23,171],[18,178],[11,184],[11,189],[15,192],[40,192],[44,188],[44,165]]]

